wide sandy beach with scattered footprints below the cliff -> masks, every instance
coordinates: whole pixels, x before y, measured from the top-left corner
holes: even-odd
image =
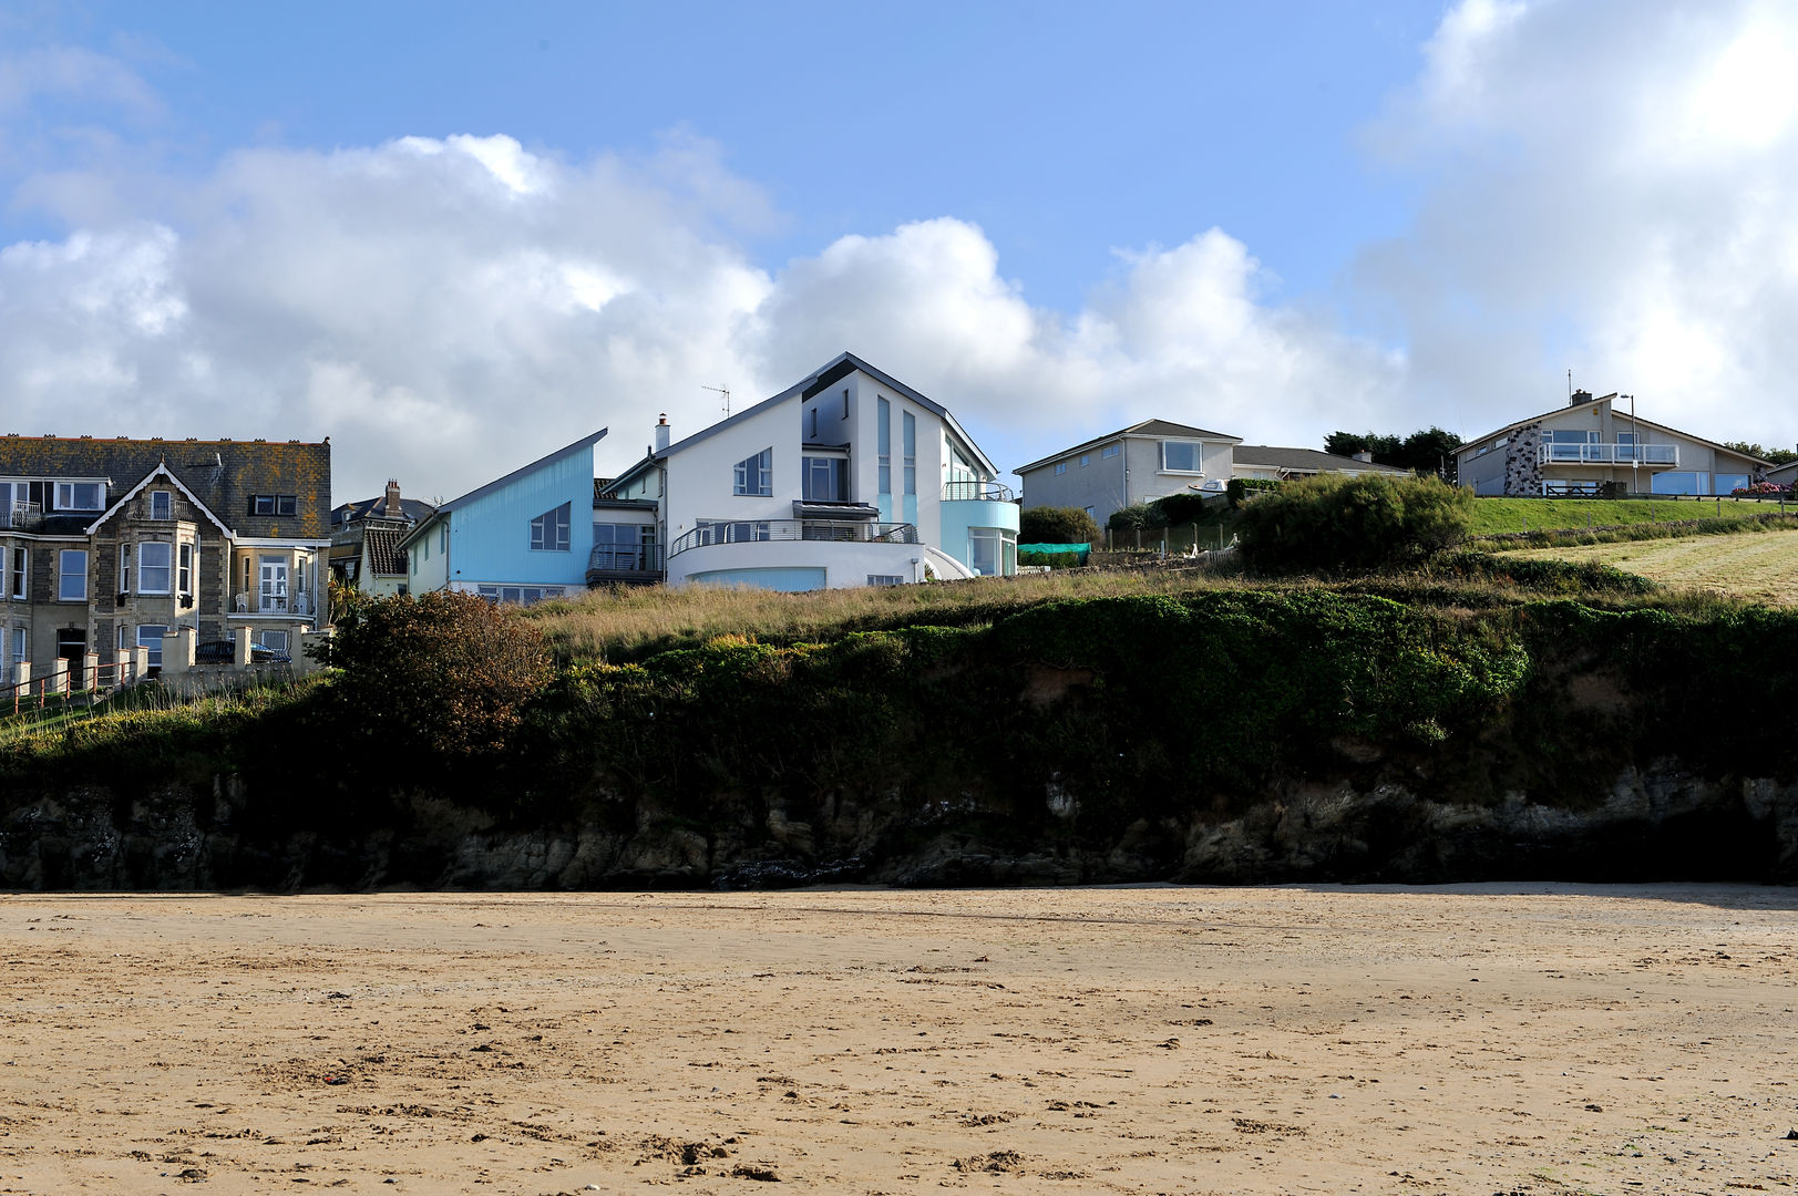
[[[0,899],[0,1191],[1798,1185],[1798,892]]]

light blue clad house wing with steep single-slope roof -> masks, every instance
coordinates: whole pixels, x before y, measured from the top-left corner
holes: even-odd
[[[593,552],[593,446],[606,430],[437,507],[412,529],[410,594],[460,590],[529,606],[586,590]]]

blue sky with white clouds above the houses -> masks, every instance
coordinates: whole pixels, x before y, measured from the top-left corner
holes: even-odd
[[[599,469],[849,349],[1003,468],[1798,442],[1798,7],[0,0],[0,432]]]

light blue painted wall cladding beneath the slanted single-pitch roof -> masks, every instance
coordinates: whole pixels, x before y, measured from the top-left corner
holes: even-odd
[[[530,520],[568,504],[568,550],[532,552]],[[450,581],[584,586],[593,552],[593,446],[583,444],[450,513]]]

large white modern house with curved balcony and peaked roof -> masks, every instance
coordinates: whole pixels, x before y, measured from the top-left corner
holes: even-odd
[[[823,590],[1018,570],[1018,504],[940,403],[843,353],[593,498],[588,581]]]

